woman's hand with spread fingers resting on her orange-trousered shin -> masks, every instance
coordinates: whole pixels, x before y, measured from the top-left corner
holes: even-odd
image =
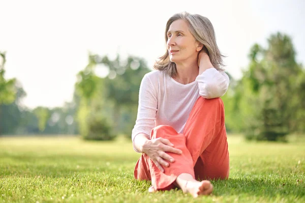
[[[166,152],[171,152],[175,154],[182,154],[182,151],[174,148],[168,139],[162,137],[156,139],[148,139],[142,146],[142,152],[145,153],[151,160],[154,161],[156,166],[164,172],[162,166],[169,166],[169,162],[173,163],[175,160]],[[167,161],[166,161],[167,160]]]

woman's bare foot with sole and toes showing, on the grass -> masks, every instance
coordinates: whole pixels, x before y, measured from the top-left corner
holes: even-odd
[[[186,185],[186,192],[189,192],[193,197],[199,195],[209,195],[213,191],[213,185],[209,181],[188,181]]]

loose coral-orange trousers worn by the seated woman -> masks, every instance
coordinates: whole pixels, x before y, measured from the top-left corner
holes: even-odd
[[[151,180],[157,190],[175,188],[181,173],[190,173],[197,180],[227,179],[229,152],[225,128],[225,110],[221,98],[198,98],[184,132],[177,133],[171,126],[160,125],[151,130],[150,138],[169,139],[181,155],[168,152],[175,159],[162,172],[155,163],[142,154],[134,169],[137,180]]]

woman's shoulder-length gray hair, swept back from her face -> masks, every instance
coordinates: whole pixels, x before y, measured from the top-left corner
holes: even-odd
[[[209,59],[214,68],[217,70],[224,70],[223,57],[225,57],[225,55],[220,52],[217,46],[216,35],[212,23],[204,16],[190,14],[188,12],[174,14],[166,23],[165,42],[168,40],[167,31],[169,30],[169,26],[173,21],[179,19],[185,20],[188,23],[190,32],[194,38],[204,45],[203,49],[205,49],[209,55]],[[159,61],[156,61],[154,69],[165,71],[171,77],[177,74],[176,64],[170,61],[167,50],[166,53],[159,58]]]

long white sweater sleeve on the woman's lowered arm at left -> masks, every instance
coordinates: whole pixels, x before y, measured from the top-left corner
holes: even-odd
[[[150,131],[155,127],[157,114],[157,91],[147,74],[143,77],[139,90],[139,105],[136,124],[132,130],[132,142],[135,152],[134,138],[139,133],[150,136]]]

